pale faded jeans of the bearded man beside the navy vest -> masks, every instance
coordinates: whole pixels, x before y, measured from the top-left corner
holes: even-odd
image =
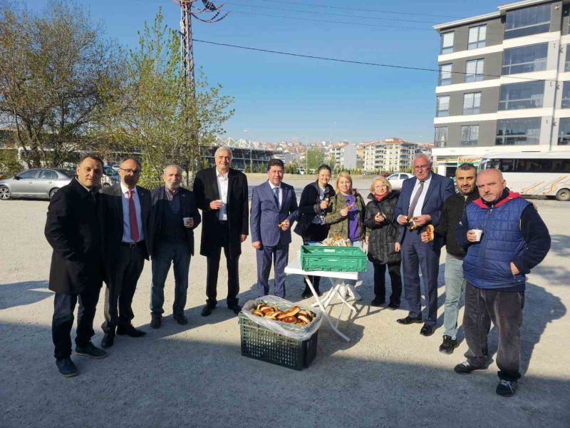
[[[444,335],[455,340],[457,335],[457,314],[459,301],[465,287],[463,260],[447,255],[445,257],[445,313],[443,315]]]

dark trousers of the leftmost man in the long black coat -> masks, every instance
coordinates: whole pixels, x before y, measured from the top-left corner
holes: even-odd
[[[79,302],[79,308],[77,310],[76,345],[87,345],[91,337],[95,335],[93,318],[100,290],[101,287],[93,287],[78,295],[56,293],[51,322],[51,337],[55,347],[54,357],[66,358],[71,355],[71,328],[73,327],[73,311],[77,302]]]

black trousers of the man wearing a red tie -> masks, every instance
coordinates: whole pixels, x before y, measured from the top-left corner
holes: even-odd
[[[105,289],[105,333],[114,333],[117,325],[130,325],[133,314],[133,296],[142,267],[145,266],[144,243],[133,247],[121,245],[118,259],[108,267]]]

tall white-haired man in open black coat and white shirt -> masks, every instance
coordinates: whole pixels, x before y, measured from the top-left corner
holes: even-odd
[[[227,307],[236,314],[238,305],[239,255],[242,243],[249,233],[247,177],[230,168],[232,150],[219,147],[214,153],[214,168],[196,174],[194,195],[202,210],[202,240],[200,254],[207,258],[206,306],[202,316],[207,317],[217,304],[219,256],[224,248],[227,266]]]

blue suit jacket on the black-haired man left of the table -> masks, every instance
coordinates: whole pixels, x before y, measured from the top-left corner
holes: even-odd
[[[269,181],[257,185],[252,192],[252,243],[273,247],[278,243],[291,243],[291,228],[299,216],[293,186],[281,183],[281,208],[277,206]],[[289,220],[289,229],[283,231],[279,223]]]

